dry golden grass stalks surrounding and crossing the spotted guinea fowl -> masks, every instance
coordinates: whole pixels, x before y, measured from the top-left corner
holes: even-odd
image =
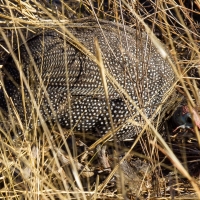
[[[198,110],[200,54],[199,24],[196,16],[199,16],[199,1],[194,1],[193,6],[196,10],[193,7],[189,8],[192,3],[185,5],[181,0],[178,3],[169,0],[156,3],[148,1],[145,4],[125,0],[81,0],[60,3],[1,0],[0,2],[0,61],[2,64],[5,54],[9,52],[15,63],[20,66],[14,50],[21,43],[38,30],[60,27],[61,34],[67,35],[72,43],[101,69],[107,105],[109,106],[109,94],[106,79],[109,79],[137,108],[123,87],[112,74],[105,70],[98,42],[95,44],[97,55],[93,55],[64,26],[70,22],[70,18],[91,15],[96,19],[115,20],[147,32],[154,46],[158,48],[162,57],[168,60],[177,76],[172,89],[177,88],[185,97],[187,104]],[[170,50],[171,56],[163,50],[160,40],[153,33],[158,35]],[[28,88],[26,77],[22,78]],[[40,84],[43,84],[42,80]],[[4,89],[3,85],[1,89]],[[42,120],[33,95],[32,101],[38,118]],[[70,104],[70,97],[68,102]],[[167,107],[172,109],[174,106],[176,105],[167,104]],[[158,106],[157,113],[160,113],[161,108]],[[158,121],[152,124],[139,108],[137,111],[146,122],[143,130],[134,141],[118,146],[116,141],[114,145],[108,141],[117,131],[113,126],[111,131],[98,140],[89,135],[74,132],[73,129],[64,130],[59,125],[54,127],[45,123],[42,127],[35,125],[33,130],[27,131],[19,116],[17,119],[10,117],[7,120],[6,114],[1,110],[0,125],[4,128],[0,126],[0,199],[125,199],[126,197],[173,199],[175,196],[179,196],[180,199],[200,199],[199,171],[197,170],[200,165],[200,137],[197,127],[194,129],[196,135],[188,136],[189,139],[183,137],[185,134],[190,134],[188,130],[177,133],[181,135],[181,138],[173,138],[173,133],[164,128],[159,117]],[[165,113],[163,117],[160,113],[162,122],[168,115],[170,114]],[[131,122],[130,119],[129,122]],[[20,135],[18,129],[22,130]],[[150,135],[146,140],[142,138],[144,132]],[[167,136],[162,137],[167,133],[170,138],[168,140]],[[88,141],[88,143],[83,144],[82,141]],[[112,171],[97,173],[101,168],[98,156],[94,153],[95,148],[105,143],[108,148],[115,150],[109,157],[111,165],[113,164]],[[121,152],[124,156],[119,161]],[[84,160],[84,156],[88,160]],[[139,172],[139,181],[136,180],[139,175],[129,180],[120,165],[124,161],[134,160],[135,157],[143,162],[144,170]],[[121,177],[120,181],[113,181],[114,175]],[[116,182],[115,186],[112,186],[113,182]],[[190,196],[187,197],[187,195]]]

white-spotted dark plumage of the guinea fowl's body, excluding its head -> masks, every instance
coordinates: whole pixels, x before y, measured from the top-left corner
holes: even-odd
[[[66,28],[94,55],[97,39],[105,69],[147,118],[155,119],[156,109],[166,97],[167,105],[173,101],[168,92],[176,77],[146,33],[101,20],[100,25],[95,20],[82,20]],[[141,130],[144,119],[109,78],[107,105],[98,65],[60,29],[42,31],[15,54],[20,58],[20,71],[8,56],[2,68],[5,90],[0,92],[0,107],[7,110],[14,105],[23,124],[30,127],[37,119],[37,104],[45,121],[80,132],[105,134],[112,127],[109,109],[114,128],[123,124],[117,131],[120,140],[132,139]],[[5,91],[13,104],[6,100]],[[168,109],[170,106],[163,106],[161,111]]]

